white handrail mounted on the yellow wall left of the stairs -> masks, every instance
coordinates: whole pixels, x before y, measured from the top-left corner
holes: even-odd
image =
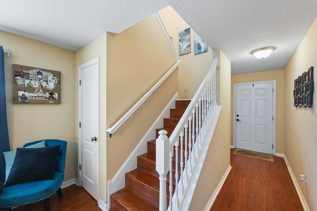
[[[159,87],[160,84],[162,84],[165,79],[168,78],[168,76],[178,67],[180,64],[181,60],[176,61],[176,63],[171,67],[165,75],[159,79],[159,81],[152,86],[152,88],[143,96],[141,99],[130,108],[130,110],[125,113],[119,120],[116,122],[112,127],[108,128],[106,131],[111,135],[146,101],[151,94],[155,92],[155,90]]]

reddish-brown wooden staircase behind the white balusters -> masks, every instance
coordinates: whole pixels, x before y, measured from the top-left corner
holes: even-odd
[[[163,128],[156,129],[157,137],[159,130],[162,129],[167,131],[169,137],[189,103],[190,100],[175,102],[175,109],[170,109],[170,117],[163,120]],[[125,187],[111,194],[110,211],[159,210],[159,173],[156,171],[155,145],[156,140],[148,141],[148,152],[138,156],[137,169],[125,174]]]

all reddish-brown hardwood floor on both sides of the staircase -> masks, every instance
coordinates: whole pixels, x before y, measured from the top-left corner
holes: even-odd
[[[274,162],[232,154],[231,171],[211,211],[304,211],[284,159]],[[82,187],[62,189],[63,197],[51,197],[51,211],[101,211],[97,201]],[[13,211],[43,211],[44,202]]]

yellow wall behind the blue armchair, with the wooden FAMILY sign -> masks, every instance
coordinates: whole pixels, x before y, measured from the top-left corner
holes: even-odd
[[[27,142],[61,139],[68,142],[64,181],[75,178],[75,52],[0,31],[4,49],[7,122],[11,150]],[[12,64],[61,72],[61,103],[12,104]]]

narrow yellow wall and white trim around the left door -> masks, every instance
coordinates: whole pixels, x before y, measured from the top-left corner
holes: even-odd
[[[78,82],[78,66],[95,58],[100,59],[99,71],[99,198],[106,202],[106,34],[76,52],[76,73],[74,77]],[[78,178],[78,83],[76,83],[76,177]]]

